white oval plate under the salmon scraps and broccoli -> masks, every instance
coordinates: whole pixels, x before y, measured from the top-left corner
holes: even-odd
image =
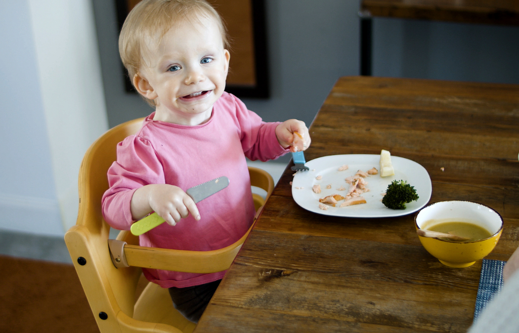
[[[375,167],[380,172],[380,155],[350,154],[350,155],[330,155],[308,161],[305,165],[309,171],[297,171],[292,181],[292,196],[297,205],[314,213],[344,216],[346,218],[387,218],[391,216],[402,216],[418,211],[427,205],[432,193],[431,178],[427,170],[420,164],[399,156],[391,156],[391,163],[394,168],[394,175],[380,177],[373,175],[367,177],[367,188],[369,192],[362,196],[366,199],[366,204],[353,205],[347,207],[328,206],[327,210],[319,208],[319,198],[332,194],[345,195],[349,189],[349,184],[345,181],[346,177],[353,176],[358,170],[367,171]],[[348,169],[338,171],[343,165],[348,165]],[[322,176],[317,180],[317,176]],[[388,185],[393,180],[405,180],[415,187],[418,200],[406,204],[406,209],[389,209],[382,203],[381,199],[386,192]],[[312,186],[321,185],[321,193],[312,191]],[[326,189],[326,185],[332,184],[331,189]],[[338,191],[341,186],[345,191]]]

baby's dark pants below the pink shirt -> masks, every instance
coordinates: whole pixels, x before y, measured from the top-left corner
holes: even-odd
[[[185,288],[169,288],[173,306],[188,320],[198,323],[220,281],[222,280]]]

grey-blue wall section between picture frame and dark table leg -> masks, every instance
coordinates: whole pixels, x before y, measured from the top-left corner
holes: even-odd
[[[243,99],[249,109],[310,125],[335,81],[359,73],[358,10],[351,0],[267,0],[271,97]]]

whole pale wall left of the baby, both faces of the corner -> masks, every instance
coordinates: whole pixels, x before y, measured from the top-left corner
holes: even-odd
[[[81,159],[108,127],[93,22],[88,0],[2,1],[0,229],[75,224]]]

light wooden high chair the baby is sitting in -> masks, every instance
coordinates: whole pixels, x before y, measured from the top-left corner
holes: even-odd
[[[86,152],[79,171],[78,219],[65,234],[65,243],[101,333],[192,332],[196,325],[173,308],[167,288],[148,283],[136,300],[141,267],[194,273],[225,270],[250,229],[236,243],[215,251],[144,248],[129,231],[108,240],[110,226],[101,213],[101,197],[108,189],[106,172],[116,160],[117,143],[136,133],[143,120],[110,129]],[[272,177],[258,168],[249,167],[249,172],[251,184],[264,189],[268,198],[274,189]],[[257,217],[264,199],[258,194],[253,198]]]

